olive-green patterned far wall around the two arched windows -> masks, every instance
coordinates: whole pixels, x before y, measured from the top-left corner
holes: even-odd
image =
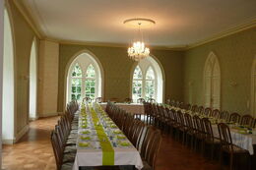
[[[64,80],[67,64],[75,54],[85,49],[91,51],[102,65],[104,99],[117,97],[120,100],[124,100],[124,98],[129,97],[131,85],[130,76],[135,63],[127,56],[127,48],[60,44],[59,112],[63,111],[64,107]],[[172,96],[176,99],[182,99],[183,53],[170,50],[152,50],[152,54],[158,58],[163,67],[165,75],[165,98]]]

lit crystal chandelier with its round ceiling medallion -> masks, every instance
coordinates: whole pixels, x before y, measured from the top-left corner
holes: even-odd
[[[150,55],[150,48],[145,46],[145,43],[143,42],[143,36],[141,32],[141,27],[149,27],[151,25],[155,25],[155,21],[150,19],[129,19],[124,21],[124,24],[130,25],[130,26],[136,26],[139,27],[139,40],[136,40],[133,42],[133,45],[128,48],[128,56],[130,59],[134,61],[140,61]]]

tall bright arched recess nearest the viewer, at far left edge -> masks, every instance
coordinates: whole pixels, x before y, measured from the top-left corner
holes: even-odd
[[[3,61],[3,95],[2,95],[2,141],[14,142],[14,42],[10,16],[4,11],[4,61]]]

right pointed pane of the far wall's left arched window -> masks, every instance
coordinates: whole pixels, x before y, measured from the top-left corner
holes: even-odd
[[[96,70],[92,64],[87,68],[86,97],[96,98]]]

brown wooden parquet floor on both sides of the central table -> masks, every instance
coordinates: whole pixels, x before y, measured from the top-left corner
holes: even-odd
[[[4,170],[55,170],[50,132],[58,117],[31,122],[30,131],[20,142],[3,146]],[[218,170],[212,162],[189,147],[164,137],[158,155],[157,170]]]

